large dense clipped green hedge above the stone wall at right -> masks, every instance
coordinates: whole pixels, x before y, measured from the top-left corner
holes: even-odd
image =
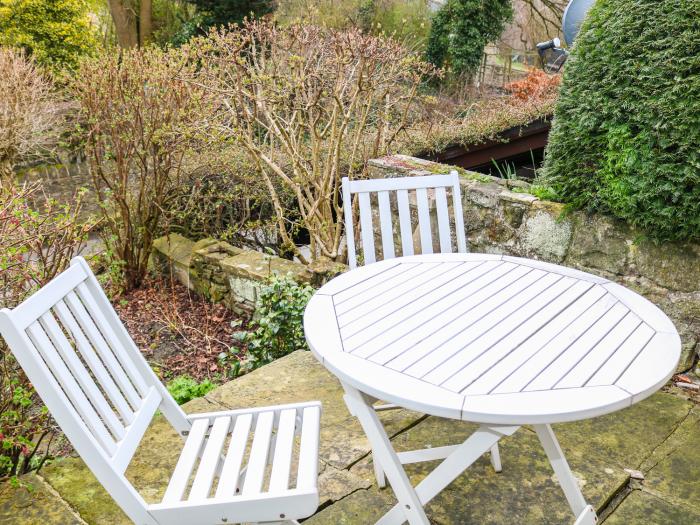
[[[565,66],[545,177],[576,208],[700,240],[700,0],[598,0]]]

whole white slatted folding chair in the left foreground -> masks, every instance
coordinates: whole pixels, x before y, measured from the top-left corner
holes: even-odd
[[[285,523],[318,507],[321,406],[185,414],[81,257],[13,310],[0,333],[100,483],[138,525]],[[155,412],[185,441],[165,495],[125,476]]]

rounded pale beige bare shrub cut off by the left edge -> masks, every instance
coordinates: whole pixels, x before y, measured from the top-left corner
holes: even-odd
[[[48,74],[24,52],[0,47],[0,184],[15,166],[51,150],[61,131],[60,99]]]

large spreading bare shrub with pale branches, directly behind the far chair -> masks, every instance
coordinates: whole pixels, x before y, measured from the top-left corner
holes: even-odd
[[[228,109],[221,131],[258,168],[284,246],[308,262],[293,243],[302,227],[312,258],[341,260],[340,179],[360,176],[367,159],[387,151],[434,69],[357,29],[254,21],[214,31],[198,47],[207,85]],[[285,207],[280,186],[296,209]]]

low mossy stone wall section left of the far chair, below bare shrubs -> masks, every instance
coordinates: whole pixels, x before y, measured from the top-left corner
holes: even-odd
[[[215,239],[194,242],[178,234],[155,241],[153,265],[156,271],[172,273],[209,300],[248,314],[255,311],[260,287],[273,274],[321,286],[346,269],[345,265],[323,260],[305,266]]]

